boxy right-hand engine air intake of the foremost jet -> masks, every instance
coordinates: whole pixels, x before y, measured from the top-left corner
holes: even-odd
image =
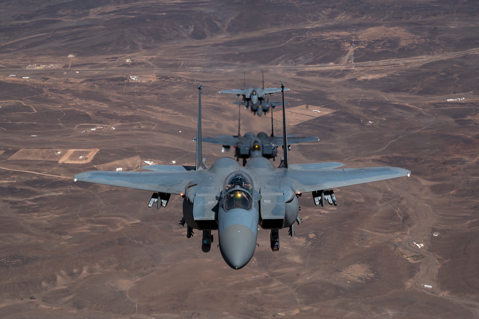
[[[285,194],[279,186],[262,186],[260,212],[263,228],[282,228],[285,220]]]

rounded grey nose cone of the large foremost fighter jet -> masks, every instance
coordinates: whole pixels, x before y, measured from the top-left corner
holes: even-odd
[[[256,235],[245,225],[226,227],[219,236],[219,250],[229,267],[240,269],[253,257]]]

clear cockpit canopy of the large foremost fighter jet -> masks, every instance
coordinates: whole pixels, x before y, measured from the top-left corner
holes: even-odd
[[[253,205],[253,180],[244,172],[233,172],[225,179],[223,186],[223,209],[239,208],[251,210]]]

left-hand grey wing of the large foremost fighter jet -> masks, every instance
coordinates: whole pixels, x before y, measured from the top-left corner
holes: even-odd
[[[182,166],[180,166],[182,167]],[[197,178],[196,171],[180,172],[111,172],[94,171],[77,174],[74,181],[181,194],[186,185]]]

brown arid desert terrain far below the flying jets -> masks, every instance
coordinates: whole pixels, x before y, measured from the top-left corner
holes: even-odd
[[[479,318],[477,1],[1,9],[1,318]],[[290,88],[288,133],[320,139],[290,163],[411,177],[335,189],[337,207],[303,194],[296,236],[280,230],[273,252],[260,230],[238,271],[216,239],[204,253],[200,232],[186,238],[180,196],[156,210],[150,192],[73,181],[194,165],[196,86],[203,136],[236,134],[239,99],[218,91],[242,88],[243,71],[261,86],[262,70]],[[270,114],[241,112],[242,134],[271,130]]]

